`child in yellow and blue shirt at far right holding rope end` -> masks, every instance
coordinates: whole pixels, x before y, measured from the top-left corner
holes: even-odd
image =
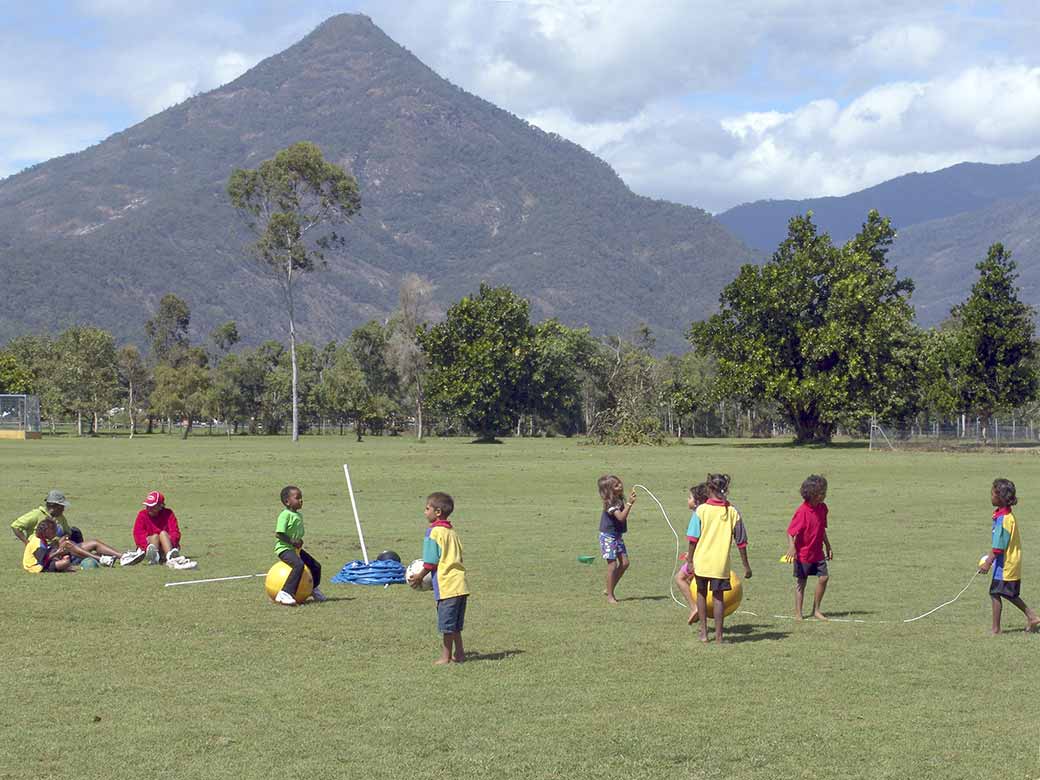
[[[1040,617],[1022,601],[1021,591],[1022,547],[1018,539],[1018,523],[1011,508],[1018,503],[1015,484],[1010,479],[994,479],[990,500],[993,512],[993,541],[989,553],[979,564],[979,571],[986,573],[993,569],[993,581],[989,587],[989,598],[993,604],[994,634],[1000,632],[1000,599],[1007,599],[1022,610],[1025,616],[1025,630],[1035,631],[1040,627]]]

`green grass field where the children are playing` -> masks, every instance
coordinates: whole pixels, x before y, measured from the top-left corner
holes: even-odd
[[[418,556],[425,495],[454,496],[469,662],[432,667],[432,596],[404,586],[330,583],[328,603],[298,608],[269,603],[261,580],[163,588],[266,570],[287,483],[304,490],[326,577],[360,557],[344,462],[372,554]],[[57,488],[88,537],[125,548],[145,493],[161,489],[200,562],[30,576],[8,535],[0,777],[1040,777],[1040,635],[1018,610],[988,635],[979,577],[957,603],[899,622],[967,583],[997,475],[1018,485],[1022,594],[1040,605],[1038,464],[737,442],[0,442],[6,523]],[[733,475],[754,568],[743,608],[760,616],[728,619],[721,648],[669,597],[675,540],[646,495],[620,605],[601,595],[602,562],[576,562],[598,552],[601,473],[647,485],[681,534],[686,489],[709,469]],[[830,480],[825,608],[866,623],[772,617],[792,610],[778,558],[810,472]]]

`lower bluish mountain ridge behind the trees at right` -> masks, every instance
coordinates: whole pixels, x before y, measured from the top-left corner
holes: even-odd
[[[717,215],[759,261],[783,240],[787,220],[812,211],[813,222],[841,243],[876,208],[898,231],[890,253],[900,276],[916,283],[917,320],[942,321],[976,279],[974,264],[1000,241],[1018,264],[1022,300],[1040,307],[1040,157],[991,165],[965,162],[907,174],[840,198],[757,201]]]

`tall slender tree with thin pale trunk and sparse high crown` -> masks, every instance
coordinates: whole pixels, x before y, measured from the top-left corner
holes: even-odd
[[[285,296],[292,362],[292,440],[298,441],[294,283],[322,262],[326,250],[342,242],[329,226],[345,222],[361,208],[358,182],[339,165],[326,161],[314,144],[302,141],[255,170],[236,168],[228,180],[228,197],[256,236],[254,256]]]

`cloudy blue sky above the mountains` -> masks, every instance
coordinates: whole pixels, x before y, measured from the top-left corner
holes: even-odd
[[[364,12],[465,89],[719,211],[1040,154],[1040,3],[0,0],[0,177]]]

